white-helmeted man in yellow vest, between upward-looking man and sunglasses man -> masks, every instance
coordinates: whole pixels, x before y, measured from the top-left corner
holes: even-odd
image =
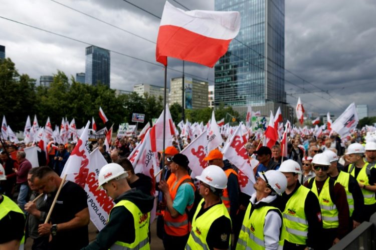
[[[299,250],[320,248],[322,220],[320,203],[316,195],[299,183],[300,165],[288,159],[279,168],[287,178],[287,187],[282,194],[280,209],[286,226],[283,249]]]

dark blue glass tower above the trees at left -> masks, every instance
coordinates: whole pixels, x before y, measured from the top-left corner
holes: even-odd
[[[110,51],[101,47],[86,48],[85,83],[110,86]]]

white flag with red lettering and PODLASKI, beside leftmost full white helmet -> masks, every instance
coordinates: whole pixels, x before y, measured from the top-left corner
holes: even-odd
[[[87,193],[90,220],[98,230],[102,230],[107,223],[108,214],[115,204],[103,188],[97,190],[98,173],[107,164],[107,161],[97,147],[90,153],[89,162],[84,189]]]

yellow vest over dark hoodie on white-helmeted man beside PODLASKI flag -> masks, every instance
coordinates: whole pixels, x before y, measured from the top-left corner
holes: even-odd
[[[130,211],[133,216],[134,221],[134,241],[132,243],[125,243],[122,241],[116,241],[111,247],[111,250],[128,250],[128,249],[150,249],[149,245],[149,221],[150,221],[150,212],[142,213],[141,210],[129,200],[120,200],[114,205],[124,206],[125,209]],[[113,208],[112,208],[113,209]],[[112,210],[111,209],[111,210]],[[108,217],[110,219],[111,212]]]

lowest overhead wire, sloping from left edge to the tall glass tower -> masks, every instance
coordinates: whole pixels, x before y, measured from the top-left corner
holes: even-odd
[[[21,21],[16,21],[16,20],[13,20],[13,19],[10,19],[10,18],[7,18],[7,17],[4,17],[4,16],[0,16],[0,18],[3,18],[5,20],[8,20],[8,21],[13,21],[13,22],[16,22],[18,24],[22,24],[22,25],[25,25],[25,26],[28,26],[28,27],[31,27],[31,28],[35,28],[35,29],[38,29],[38,30],[41,30],[41,31],[45,31],[47,33],[50,33],[50,34],[54,34],[54,35],[58,35],[60,37],[64,37],[64,38],[67,38],[67,39],[70,39],[70,40],[74,40],[74,41],[77,41],[77,42],[80,42],[80,43],[83,43],[83,44],[86,44],[86,45],[94,45],[92,43],[89,43],[89,42],[86,42],[86,41],[82,41],[82,40],[78,40],[76,38],[72,38],[72,37],[69,37],[67,35],[63,35],[63,34],[59,34],[59,33],[56,33],[56,32],[53,32],[53,31],[50,31],[50,30],[47,30],[47,29],[43,29],[43,28],[40,28],[40,27],[37,27],[37,26],[33,26],[33,25],[30,25],[30,24],[27,24],[27,23],[24,23],[24,22],[21,22]],[[94,45],[95,46],[95,45]],[[119,52],[119,51],[115,51],[115,50],[111,50],[111,49],[107,49],[108,51],[111,51],[113,53],[116,53],[116,54],[120,54],[120,55],[123,55],[123,56],[126,56],[126,57],[129,57],[129,58],[132,58],[132,59],[135,59],[135,60],[139,60],[139,61],[143,61],[143,62],[146,62],[146,63],[149,63],[149,64],[152,64],[152,65],[156,65],[158,67],[164,67],[163,65],[159,64],[159,63],[155,63],[155,62],[151,62],[151,61],[147,61],[147,60],[144,60],[144,59],[141,59],[141,58],[138,58],[138,57],[135,57],[135,56],[132,56],[132,55],[129,55],[129,54],[125,54],[125,53],[122,53],[122,52]],[[174,69],[174,68],[171,68],[171,67],[167,67],[168,69],[172,70],[172,71],[176,71],[176,72],[179,72],[179,73],[182,73],[181,70],[177,70],[177,69]],[[190,73],[186,73],[185,74],[187,75],[191,75],[193,77],[196,77],[196,78],[201,78],[201,79],[204,79],[204,80],[208,80],[208,81],[212,81],[214,82],[213,80],[209,80],[209,79],[206,79],[204,77],[201,77],[201,76],[198,76],[198,75],[194,75],[194,74],[190,74]]]

